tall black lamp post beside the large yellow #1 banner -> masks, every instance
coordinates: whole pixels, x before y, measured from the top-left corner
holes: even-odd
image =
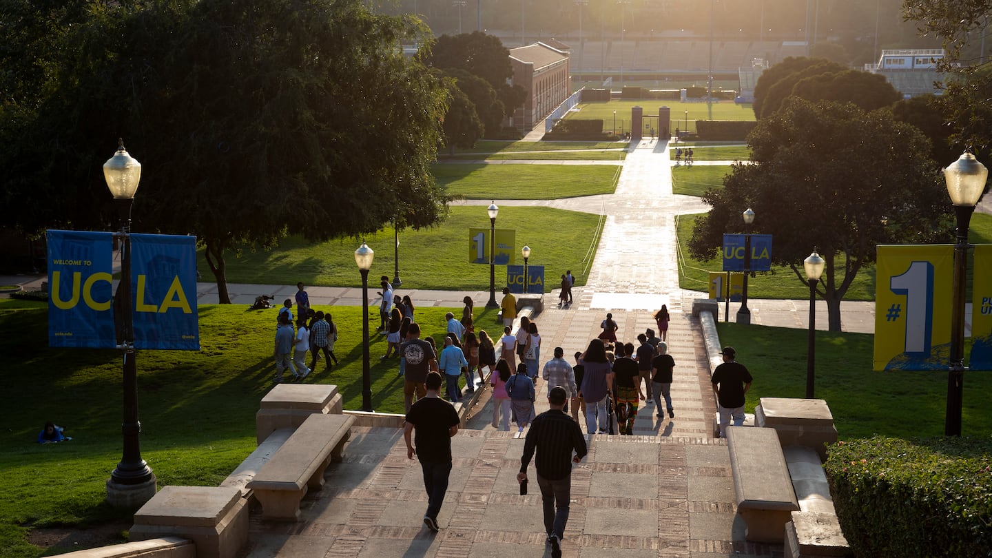
[[[947,416],[944,436],[961,435],[961,403],[964,383],[964,288],[968,270],[968,223],[975,204],[985,190],[989,171],[965,151],[943,170],[947,193],[957,217],[957,242],[954,244],[954,285],[950,322],[950,361],[947,368]]]

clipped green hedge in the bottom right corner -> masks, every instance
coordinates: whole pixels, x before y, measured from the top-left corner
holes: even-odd
[[[990,556],[992,439],[838,442],[824,468],[858,556]]]

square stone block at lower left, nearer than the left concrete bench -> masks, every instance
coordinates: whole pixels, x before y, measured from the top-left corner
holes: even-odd
[[[132,541],[178,536],[198,558],[235,558],[248,542],[248,506],[234,487],[164,487],[135,512]]]

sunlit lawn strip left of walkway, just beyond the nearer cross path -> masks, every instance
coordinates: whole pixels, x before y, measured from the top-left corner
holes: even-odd
[[[432,166],[437,184],[467,200],[557,200],[613,194],[620,167],[614,165]]]

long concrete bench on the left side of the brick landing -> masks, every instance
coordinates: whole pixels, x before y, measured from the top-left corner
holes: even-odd
[[[323,487],[323,472],[341,461],[355,418],[311,414],[246,486],[262,503],[265,519],[296,521],[308,489]]]

